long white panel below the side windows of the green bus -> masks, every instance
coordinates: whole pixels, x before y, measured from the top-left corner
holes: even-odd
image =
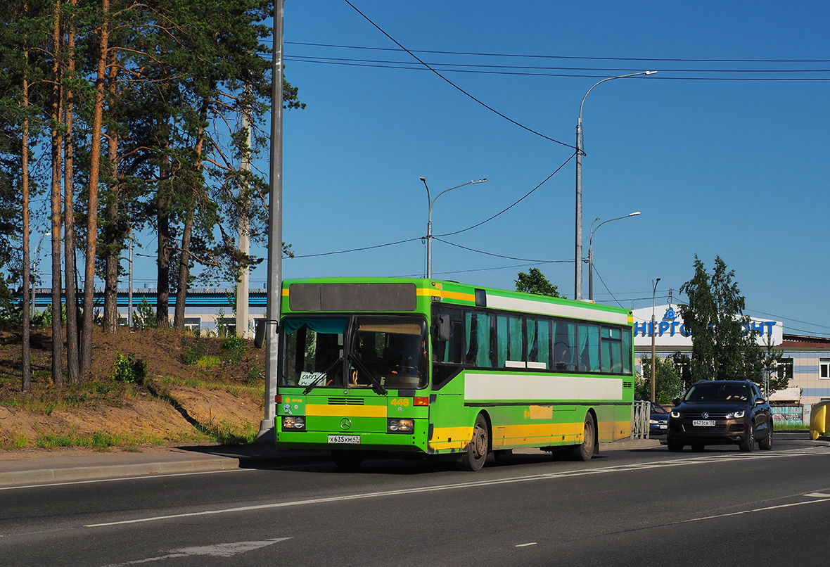
[[[623,399],[623,379],[539,374],[466,374],[464,401],[486,400],[542,402],[544,400]]]

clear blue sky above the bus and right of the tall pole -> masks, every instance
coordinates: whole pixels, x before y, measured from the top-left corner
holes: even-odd
[[[720,255],[750,315],[830,335],[830,3],[353,3],[461,90],[567,145],[471,100],[347,2],[288,0],[286,78],[307,107],[285,118],[283,237],[298,257],[284,277],[422,276],[421,240],[303,256],[425,236],[421,176],[433,198],[488,179],[437,201],[435,235],[499,213],[574,154],[594,83],[656,70],[603,83],[583,107],[584,256],[594,218],[642,212],[596,233],[595,299],[650,305],[660,277],[658,304],[669,288],[682,301],[695,255]],[[760,78],[788,80],[747,80]],[[435,241],[433,276],[513,289],[536,266],[573,297],[574,185],[571,159],[498,218],[442,238],[502,257]],[[265,280],[263,262],[251,283]],[[587,298],[587,266],[583,280]]]

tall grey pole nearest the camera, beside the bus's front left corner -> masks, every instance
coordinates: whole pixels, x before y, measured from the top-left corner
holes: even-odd
[[[266,296],[267,352],[265,359],[265,417],[256,436],[259,442],[274,442],[276,416],[277,325],[282,300],[282,43],[286,16],[285,0],[274,6],[274,51],[271,63],[271,180],[268,200],[268,291]]]

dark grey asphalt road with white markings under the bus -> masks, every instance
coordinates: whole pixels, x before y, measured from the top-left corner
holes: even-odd
[[[803,438],[803,436],[802,436]],[[819,565],[830,447],[372,461],[0,490],[0,565]]]

